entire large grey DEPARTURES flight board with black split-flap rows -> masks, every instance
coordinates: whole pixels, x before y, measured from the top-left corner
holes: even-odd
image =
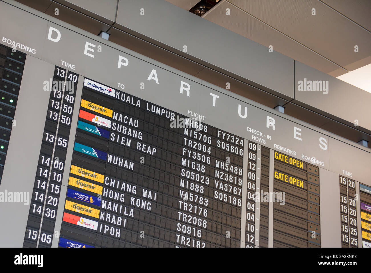
[[[42,14],[0,13],[43,29],[0,27],[1,246],[371,246],[369,148]]]

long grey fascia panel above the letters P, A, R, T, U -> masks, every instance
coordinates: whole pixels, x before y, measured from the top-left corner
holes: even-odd
[[[144,16],[140,15],[141,8]],[[226,71],[237,79],[255,82],[266,91],[293,98],[292,59],[278,52],[269,53],[267,47],[205,22],[165,0],[119,0],[114,26],[139,33],[151,42],[202,65]],[[187,53],[183,52],[184,45]]]

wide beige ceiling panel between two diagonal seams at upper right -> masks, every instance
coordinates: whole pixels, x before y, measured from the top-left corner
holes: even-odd
[[[229,2],[345,69],[349,70],[349,64],[371,56],[370,32],[321,1],[229,0]],[[352,1],[348,2],[351,6]],[[316,9],[316,15],[311,14],[313,8]],[[236,19],[232,17],[231,20]],[[367,20],[370,20],[370,13]],[[354,52],[355,45],[359,47],[357,53]]]

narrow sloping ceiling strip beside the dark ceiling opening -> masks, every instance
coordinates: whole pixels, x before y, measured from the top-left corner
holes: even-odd
[[[230,9],[231,15],[226,15],[227,8]],[[232,15],[233,20],[231,20]],[[253,16],[250,16],[227,1],[223,1],[219,5],[215,6],[212,10],[207,12],[203,18],[219,24],[226,29],[233,30],[233,32],[248,37],[266,47],[272,45],[273,50],[295,60],[299,60],[300,62],[312,66],[324,73],[329,73],[337,69],[340,69],[338,72],[339,75],[348,72],[340,66],[329,62],[329,60],[325,59],[321,55],[318,55],[312,50],[302,46],[300,43],[297,43],[283,35],[272,27],[260,22]],[[268,48],[266,52],[267,54],[270,54]]]

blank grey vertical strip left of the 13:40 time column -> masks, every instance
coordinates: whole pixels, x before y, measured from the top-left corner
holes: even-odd
[[[53,78],[54,66],[32,56],[26,57],[17,109],[0,184],[0,192],[25,192],[32,197],[37,162],[43,138],[50,92],[44,80]],[[17,162],[17,164],[14,164]],[[0,202],[0,247],[22,247],[30,203]],[[12,219],[17,218],[17,224]]]

